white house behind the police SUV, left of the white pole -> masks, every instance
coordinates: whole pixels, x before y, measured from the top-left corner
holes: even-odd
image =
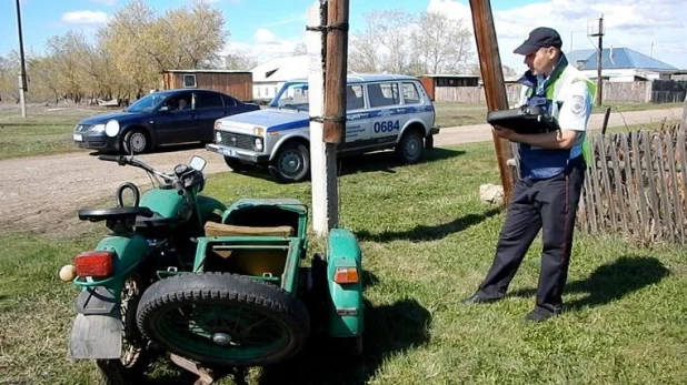
[[[273,58],[253,68],[250,72],[255,100],[272,100],[287,81],[308,78],[309,65],[310,58],[301,54]]]

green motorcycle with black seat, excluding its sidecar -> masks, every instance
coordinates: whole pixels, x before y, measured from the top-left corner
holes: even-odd
[[[141,196],[135,184],[125,183],[117,190],[117,207],[79,210],[80,220],[104,222],[110,233],[60,271],[63,281],[81,290],[69,356],[96,359],[108,383],[136,383],[152,353],[136,321],[142,293],[166,272],[192,269],[205,223],[219,222],[226,206],[199,194],[205,186],[202,158],[193,156],[172,172],[133,156],[99,159],[145,170],[153,188]],[[133,202],[127,206],[129,195]]]

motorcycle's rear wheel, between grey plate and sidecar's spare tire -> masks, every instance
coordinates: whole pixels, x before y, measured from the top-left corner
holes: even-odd
[[[150,364],[148,341],[136,325],[136,308],[141,297],[141,280],[137,274],[127,277],[121,291],[122,341],[119,359],[97,359],[106,384],[138,383]]]

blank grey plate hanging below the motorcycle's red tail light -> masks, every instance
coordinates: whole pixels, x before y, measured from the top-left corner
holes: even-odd
[[[119,306],[109,314],[77,314],[69,338],[72,359],[114,359],[121,355]]]

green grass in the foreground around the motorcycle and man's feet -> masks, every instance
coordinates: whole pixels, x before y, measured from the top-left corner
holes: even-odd
[[[219,384],[684,383],[685,247],[578,233],[568,311],[532,325],[522,316],[535,301],[536,241],[505,301],[457,303],[484,277],[504,220],[478,199],[480,184],[498,183],[494,160],[486,143],[436,149],[414,166],[398,166],[391,153],[345,162],[340,221],[365,253],[364,357],[347,361],[313,344],[288,364]],[[223,202],[289,196],[310,204],[309,183],[232,173],[212,176],[206,193]],[[94,365],[66,358],[77,291],[57,280],[62,264],[96,242],[97,234],[0,235],[0,383],[96,381]],[[167,364],[152,375],[158,384],[188,379]]]

